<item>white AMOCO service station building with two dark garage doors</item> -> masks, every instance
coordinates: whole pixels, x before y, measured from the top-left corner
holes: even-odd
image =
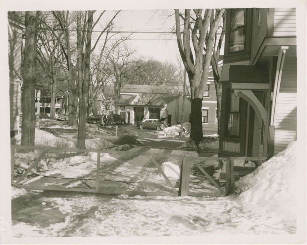
[[[181,93],[173,86],[124,85],[120,92],[118,114],[125,118],[127,124],[134,125],[143,119],[165,120],[170,126],[181,122]],[[191,114],[191,101],[185,98],[184,122]]]

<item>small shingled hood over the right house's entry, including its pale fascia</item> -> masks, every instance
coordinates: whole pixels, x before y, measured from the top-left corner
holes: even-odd
[[[266,69],[255,65],[231,65],[229,87],[244,90],[268,90],[269,75]]]

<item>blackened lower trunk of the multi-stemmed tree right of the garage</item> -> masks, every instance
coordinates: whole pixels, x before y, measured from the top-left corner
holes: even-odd
[[[191,134],[190,138],[194,140],[196,145],[203,138],[203,124],[201,121],[202,98],[194,98],[191,103]]]

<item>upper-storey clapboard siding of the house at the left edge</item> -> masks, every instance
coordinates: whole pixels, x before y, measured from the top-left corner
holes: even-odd
[[[21,63],[21,29],[17,29],[12,27],[14,32],[14,40],[8,41],[9,45],[9,76],[10,80],[20,81],[19,77],[17,76],[16,72],[20,74],[20,63]]]

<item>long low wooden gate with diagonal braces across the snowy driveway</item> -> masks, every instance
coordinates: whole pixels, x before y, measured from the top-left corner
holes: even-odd
[[[35,150],[36,159],[31,162],[30,166],[26,171],[14,181],[14,163],[15,163],[15,150]],[[88,174],[84,174],[82,177],[59,177],[57,175],[42,175],[38,174],[39,178],[25,180],[25,177],[33,168],[38,165],[42,159],[46,157],[46,154],[54,154],[60,157],[60,152],[65,152],[65,156],[68,158],[76,156],[82,153],[97,153],[96,164],[92,164],[91,171]],[[35,152],[34,152],[35,153]],[[105,179],[102,172],[104,171],[101,167],[100,155],[103,153],[119,155],[121,157],[126,156],[147,156],[148,161],[151,162],[153,168],[150,171],[156,171],[157,174],[161,174],[165,182],[141,182],[138,181],[138,172],[134,177],[134,181],[138,182],[138,185],[134,185],[133,190],[130,189],[129,185],[133,185],[132,181],[119,181],[119,180],[107,180]],[[180,165],[180,177],[179,181],[175,180],[176,183],[172,183],[169,177],[166,176],[162,170],[157,159],[163,160],[163,157],[177,158]],[[60,158],[62,159],[62,158]],[[116,159],[116,158],[115,158]],[[162,160],[161,160],[162,159]],[[92,193],[103,193],[103,194],[127,194],[127,195],[142,195],[142,196],[225,196],[231,194],[234,190],[234,173],[233,163],[235,160],[265,160],[265,157],[185,157],[183,155],[169,155],[169,154],[154,154],[154,153],[138,153],[135,151],[115,151],[115,150],[97,150],[97,149],[75,149],[75,148],[55,148],[55,147],[29,147],[29,146],[17,146],[11,145],[11,185],[34,190],[54,190],[54,191],[73,191],[73,192],[92,192]],[[226,183],[225,189],[222,189],[217,181],[207,173],[204,169],[206,161],[226,161]],[[201,178],[201,186],[195,186],[194,182],[190,181],[191,166],[196,166],[203,174]],[[83,173],[82,173],[83,174]],[[146,176],[145,176],[146,177]],[[46,181],[43,181],[45,178]],[[53,178],[53,179],[51,179]],[[130,179],[129,179],[130,180]],[[163,179],[162,179],[163,180]],[[53,182],[52,182],[53,181]],[[80,183],[76,186],[75,182]],[[113,181],[112,184],[110,184]],[[67,185],[67,182],[69,185]],[[115,184],[114,184],[115,183]],[[141,186],[142,185],[142,186]],[[143,190],[143,187],[146,187]],[[141,188],[142,187],[142,188]]]

